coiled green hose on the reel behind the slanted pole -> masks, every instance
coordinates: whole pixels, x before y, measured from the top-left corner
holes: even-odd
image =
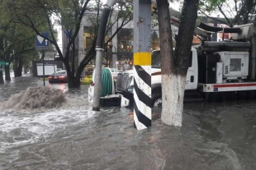
[[[102,68],[102,92],[101,97],[112,94],[112,76],[111,71],[107,68]]]

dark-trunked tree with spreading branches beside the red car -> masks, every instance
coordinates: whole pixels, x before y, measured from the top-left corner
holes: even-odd
[[[77,51],[75,50],[75,39],[78,36],[78,31],[81,27],[81,21],[86,12],[92,13],[90,10],[93,10],[93,3],[90,0],[11,0],[7,1],[10,13],[12,16],[15,16],[16,22],[26,25],[33,29],[36,34],[40,32],[49,32],[50,37],[46,38],[40,34],[45,39],[48,39],[51,44],[53,44],[59,53],[59,57],[64,62],[64,66],[67,70],[69,77],[69,87],[79,87],[80,85],[80,76],[84,67],[95,57],[95,42],[92,42],[92,47],[88,50],[82,62],[78,66],[77,71],[74,70],[74,61],[77,57]],[[97,6],[99,8],[99,1],[97,0]],[[95,4],[95,3],[94,3]],[[131,13],[131,12],[130,12]],[[100,9],[97,12],[97,16],[100,15]],[[54,16],[54,17],[53,17]],[[52,18],[55,18],[52,20]],[[130,17],[127,17],[130,18]],[[40,19],[40,23],[36,20]],[[126,22],[127,20],[125,20]],[[48,30],[39,29],[40,25],[48,25]],[[65,47],[66,53],[61,52],[57,39],[55,38],[55,30],[53,25],[61,25],[62,30],[66,33],[68,37],[68,43]],[[121,28],[117,28],[121,30]],[[95,34],[95,39],[97,34]],[[69,54],[72,54],[69,57]],[[71,58],[69,61],[69,58]],[[71,63],[71,64],[70,64]],[[70,66],[70,65],[71,66]]]

